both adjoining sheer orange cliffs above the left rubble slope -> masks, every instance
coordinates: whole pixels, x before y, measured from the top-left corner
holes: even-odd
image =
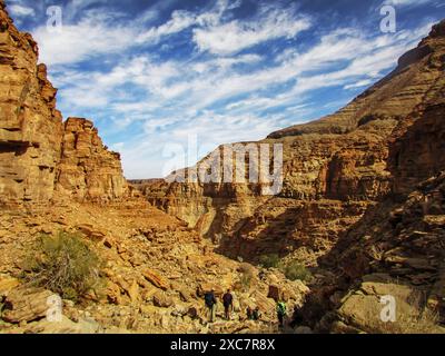
[[[62,122],[38,56],[32,37],[17,30],[0,1],[0,205],[123,197],[119,155],[103,147],[90,121]]]

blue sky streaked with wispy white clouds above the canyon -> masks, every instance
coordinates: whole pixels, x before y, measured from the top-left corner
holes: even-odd
[[[204,156],[339,109],[445,17],[443,0],[7,4],[39,42],[63,117],[92,119],[134,179],[167,175],[166,150],[195,137]],[[383,4],[395,33],[380,31]],[[49,6],[62,9],[58,33]]]

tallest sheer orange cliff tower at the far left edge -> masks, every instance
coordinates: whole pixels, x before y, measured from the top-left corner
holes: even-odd
[[[38,48],[0,4],[0,204],[40,204],[53,196],[62,120]]]

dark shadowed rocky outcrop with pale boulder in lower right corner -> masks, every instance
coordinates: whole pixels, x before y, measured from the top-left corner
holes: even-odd
[[[335,312],[319,324],[324,330],[444,333],[434,328],[445,318],[444,185],[441,174],[403,202],[382,201],[320,259],[337,276],[326,297]],[[380,320],[384,296],[396,299],[394,323]]]

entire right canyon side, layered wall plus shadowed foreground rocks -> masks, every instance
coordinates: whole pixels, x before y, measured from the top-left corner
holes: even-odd
[[[384,294],[406,309],[405,324],[423,325],[425,306],[443,319],[444,69],[442,21],[344,109],[249,142],[284,145],[278,196],[255,185],[138,187],[225,255],[257,263],[276,253],[313,267],[319,278],[301,309],[312,327],[382,330]]]

